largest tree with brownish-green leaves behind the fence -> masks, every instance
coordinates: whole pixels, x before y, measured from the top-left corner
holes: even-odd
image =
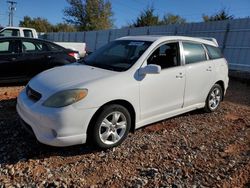
[[[106,0],[67,0],[64,20],[78,30],[102,30],[113,27],[111,3]]]

